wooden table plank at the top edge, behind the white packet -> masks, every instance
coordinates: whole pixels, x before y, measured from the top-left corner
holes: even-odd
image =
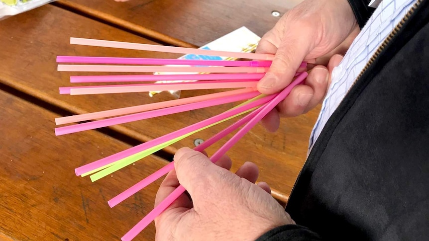
[[[246,26],[259,36],[270,30],[281,14],[301,0],[60,0],[58,3],[93,17],[126,28],[143,27],[191,43],[203,46],[241,26]],[[146,30],[145,30],[146,29]],[[152,35],[160,38],[162,36]],[[167,43],[172,43],[168,38]],[[174,44],[174,43],[173,43]],[[178,46],[184,46],[176,43]],[[186,46],[187,47],[187,46]]]

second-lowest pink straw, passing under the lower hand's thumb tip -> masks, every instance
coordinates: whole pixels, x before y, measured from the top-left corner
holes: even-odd
[[[204,141],[202,144],[198,145],[194,148],[195,151],[202,152],[206,148],[210,147],[229,133],[236,130],[238,127],[242,126],[244,123],[248,122],[251,118],[253,118],[261,108],[258,108],[254,111],[252,111],[250,114],[246,115],[245,117],[241,118],[240,120],[236,121],[234,124],[228,126],[227,128],[223,129],[222,131],[218,132],[213,137],[209,138],[208,140]],[[109,201],[107,201],[108,205],[112,208],[122,202],[123,200],[127,199],[131,195],[134,195],[141,189],[145,188],[152,182],[156,181],[158,178],[162,177],[163,175],[167,174],[167,172],[174,169],[174,161],[168,163],[167,165],[163,166],[159,170],[155,171],[154,173],[150,174],[143,180],[139,181],[138,183],[134,184],[130,188],[126,189],[125,191],[121,192],[117,196],[113,197]]]

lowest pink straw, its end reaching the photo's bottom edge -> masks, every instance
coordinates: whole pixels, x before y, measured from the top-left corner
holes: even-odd
[[[222,157],[227,150],[229,150],[235,143],[237,143],[253,126],[255,126],[268,112],[270,112],[280,101],[284,100],[291,92],[292,88],[301,83],[306,77],[307,73],[301,74],[291,84],[282,90],[270,102],[265,104],[261,111],[256,114],[243,128],[241,128],[231,139],[229,139],[217,152],[210,158],[212,162],[216,162]],[[144,228],[146,228],[156,217],[158,217],[166,208],[168,208],[182,193],[186,190],[182,185],[176,188],[170,195],[168,195],[158,206],[156,206],[149,214],[146,215],[140,222],[138,222],[128,233],[126,233],[121,240],[131,241],[134,239]]]

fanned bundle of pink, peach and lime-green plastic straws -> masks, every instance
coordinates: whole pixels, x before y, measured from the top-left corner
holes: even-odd
[[[195,97],[169,100],[158,103],[143,104],[132,107],[112,109],[88,114],[60,117],[55,119],[57,125],[84,122],[55,129],[55,134],[64,135],[85,130],[91,130],[110,125],[117,125],[131,121],[159,117],[184,111],[206,108],[214,105],[243,101],[232,109],[215,115],[209,119],[200,121],[188,127],[174,131],[162,137],[145,142],[128,150],[113,154],[109,157],[83,165],[75,169],[76,175],[90,175],[92,181],[105,177],[122,167],[147,157],[173,143],[189,137],[199,131],[216,124],[230,120],[237,116],[245,115],[226,129],[218,132],[213,137],[194,148],[196,151],[204,151],[229,133],[239,129],[232,138],[218,149],[210,158],[216,162],[239,141],[253,126],[255,126],[270,110],[290,93],[292,88],[302,83],[307,73],[297,73],[292,83],[279,93],[264,95],[256,90],[258,80],[264,77],[270,67],[273,55],[238,53],[227,51],[213,51],[206,49],[192,49],[171,46],[159,46],[150,44],[116,42],[96,39],[71,38],[71,44],[99,46],[110,48],[122,48],[132,50],[157,51],[168,53],[197,54],[208,56],[225,56],[251,60],[181,60],[181,59],[144,59],[144,58],[116,58],[116,57],[82,57],[82,56],[58,56],[58,63],[74,63],[79,65],[58,65],[58,71],[74,72],[196,72],[214,74],[183,74],[183,75],[113,75],[113,76],[72,76],[71,82],[127,82],[127,81],[157,81],[171,80],[169,83],[141,83],[141,84],[114,84],[96,86],[60,87],[60,94],[106,94],[141,91],[164,90],[196,90],[196,89],[225,89],[237,88],[213,94]],[[103,64],[103,65],[82,65]],[[109,65],[110,64],[110,65]],[[111,65],[114,64],[114,65]],[[149,65],[149,66],[146,66]],[[161,65],[161,66],[156,66]],[[179,65],[179,66],[165,66]],[[186,65],[186,66],[180,66]],[[301,67],[305,67],[303,63]],[[183,80],[199,80],[196,82],[183,82]],[[97,120],[96,120],[97,119]],[[100,120],[99,120],[100,119]],[[110,199],[107,203],[114,207],[126,198],[135,194],[153,181],[174,169],[174,162],[170,162],[158,171],[144,178],[140,182],[126,189],[122,193]],[[121,240],[130,241],[147,227],[158,215],[160,215],[171,203],[173,203],[185,188],[179,186],[165,200],[156,206],[149,214],[137,223]]]

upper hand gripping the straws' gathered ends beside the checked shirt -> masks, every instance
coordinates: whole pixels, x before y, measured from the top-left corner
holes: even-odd
[[[347,0],[305,0],[288,11],[259,42],[257,53],[275,54],[270,70],[258,82],[261,93],[284,89],[303,61],[314,67],[305,82],[262,121],[276,131],[280,117],[297,116],[314,108],[328,87],[327,64],[334,54],[348,49],[359,26]],[[304,71],[304,70],[299,70]]]

